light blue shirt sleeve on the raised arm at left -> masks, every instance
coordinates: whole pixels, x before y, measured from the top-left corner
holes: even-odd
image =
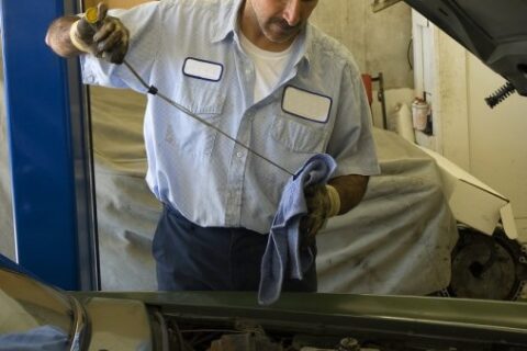
[[[119,18],[130,31],[126,61],[146,82],[150,81],[152,69],[159,49],[161,33],[162,1],[147,2],[128,10],[110,10],[109,15]],[[92,55],[80,57],[82,81],[110,88],[130,88],[146,92],[141,81],[125,65],[110,64]]]

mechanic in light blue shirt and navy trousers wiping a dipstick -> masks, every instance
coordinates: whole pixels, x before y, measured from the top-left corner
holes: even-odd
[[[257,290],[265,234],[292,172],[319,152],[338,165],[328,185],[305,191],[301,234],[313,238],[360,202],[379,171],[361,76],[341,45],[307,23],[316,5],[165,0],[111,15],[99,5],[97,26],[76,16],[49,26],[46,43],[58,55],[81,55],[86,83],[144,92],[133,67],[281,166],[149,97],[146,180],[165,205],[153,244],[160,290]],[[315,265],[283,290],[316,291]]]

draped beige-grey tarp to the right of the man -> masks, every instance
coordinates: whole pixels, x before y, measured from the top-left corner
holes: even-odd
[[[351,212],[318,236],[319,290],[429,294],[450,281],[458,233],[436,163],[399,135],[374,129],[381,174]]]

